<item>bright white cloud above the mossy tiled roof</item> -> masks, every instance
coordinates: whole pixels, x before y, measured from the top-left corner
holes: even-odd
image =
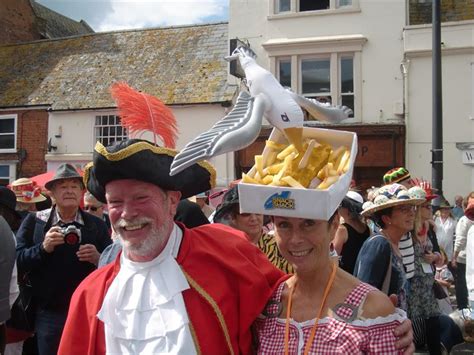
[[[227,20],[228,0],[109,0],[97,32]]]

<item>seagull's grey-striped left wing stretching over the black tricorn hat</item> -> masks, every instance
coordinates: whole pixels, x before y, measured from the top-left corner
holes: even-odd
[[[233,152],[252,144],[260,133],[266,102],[263,94],[253,98],[242,91],[232,111],[210,130],[201,133],[189,142],[175,156],[170,175],[176,175],[201,160]]]

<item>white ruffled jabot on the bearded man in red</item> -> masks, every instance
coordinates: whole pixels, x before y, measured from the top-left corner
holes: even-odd
[[[189,284],[176,262],[183,233],[174,225],[163,252],[149,262],[120,259],[120,271],[97,317],[107,354],[196,354],[182,292]]]

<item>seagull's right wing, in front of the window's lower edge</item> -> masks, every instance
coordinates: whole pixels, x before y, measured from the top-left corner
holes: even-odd
[[[314,99],[308,99],[304,96],[295,94],[291,90],[287,89],[287,91],[291,94],[298,105],[308,111],[311,116],[319,121],[339,123],[347,119],[352,114],[352,110],[347,106],[325,105]]]

